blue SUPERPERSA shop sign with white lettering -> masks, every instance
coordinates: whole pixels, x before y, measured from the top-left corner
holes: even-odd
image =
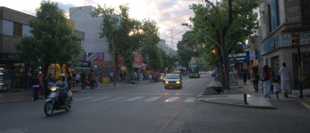
[[[228,62],[256,60],[256,50],[244,51],[236,54],[228,55]]]

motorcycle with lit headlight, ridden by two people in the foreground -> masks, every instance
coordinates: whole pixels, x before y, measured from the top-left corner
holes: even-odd
[[[68,104],[67,97],[62,97],[62,101],[64,101],[64,103],[61,103],[61,99],[59,97],[59,94],[61,93],[59,92],[60,89],[63,89],[63,88],[52,87],[50,89],[51,94],[48,96],[48,99],[46,100],[45,105],[44,105],[44,113],[47,116],[52,115],[54,110],[58,111],[60,109],[64,109],[66,111],[69,111],[71,109],[72,105]],[[72,101],[72,92],[70,94],[70,97]]]

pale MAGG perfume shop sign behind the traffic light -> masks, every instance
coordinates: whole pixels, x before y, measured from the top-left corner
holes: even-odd
[[[278,36],[279,47],[286,47],[292,45],[292,34],[285,34]],[[300,32],[299,34],[300,45],[310,44],[310,31]]]

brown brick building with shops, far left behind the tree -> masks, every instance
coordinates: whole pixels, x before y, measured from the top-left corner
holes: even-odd
[[[30,18],[35,18],[35,16],[0,6],[0,91],[29,88],[29,75],[31,75],[29,67],[24,66],[24,62],[18,60],[15,44],[20,42],[22,35],[31,36],[28,24]],[[74,32],[83,42],[85,33],[78,30]],[[81,56],[80,60],[83,60],[84,53],[82,52],[79,56]],[[50,68],[50,71],[55,70],[54,74],[57,71],[60,73],[58,69],[55,69],[55,64],[52,66],[54,69]],[[66,68],[68,70],[68,67]],[[42,71],[39,66],[35,69],[38,72]]]

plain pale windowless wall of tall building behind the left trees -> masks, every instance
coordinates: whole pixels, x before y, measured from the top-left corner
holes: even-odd
[[[83,49],[85,49],[86,56],[88,53],[104,53],[104,61],[112,61],[111,54],[108,53],[108,41],[106,38],[99,38],[100,25],[102,24],[103,17],[92,17],[91,11],[94,11],[93,6],[82,6],[84,10],[77,10],[80,7],[70,8],[70,19],[75,21],[74,28],[85,32],[85,40],[82,42]]]

